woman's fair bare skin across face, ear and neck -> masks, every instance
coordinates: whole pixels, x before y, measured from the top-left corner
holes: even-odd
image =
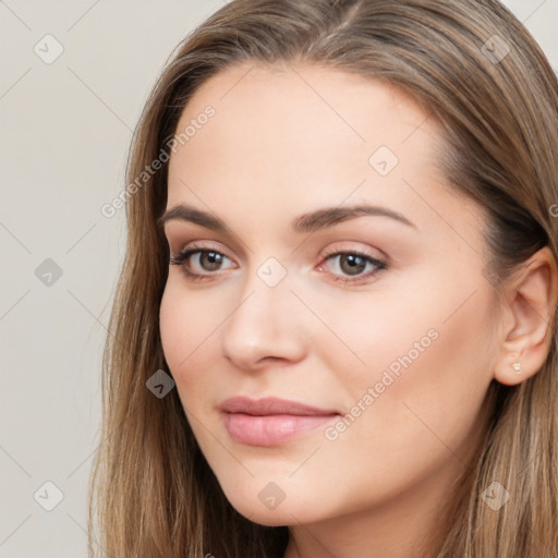
[[[436,122],[392,86],[316,65],[242,63],[205,82],[178,129],[207,105],[215,117],[171,157],[167,209],[208,211],[229,232],[180,219],[165,232],[171,255],[195,241],[226,257],[217,270],[199,254],[171,265],[160,306],[199,447],[240,513],[290,526],[287,558],[418,556],[481,439],[489,384],[523,381],[544,363],[541,316],[556,304],[556,266],[537,253],[497,307],[483,275],[483,210],[440,174]],[[368,162],[379,146],[399,158],[385,177]],[[415,227],[361,216],[312,234],[291,228],[308,211],[361,203]],[[336,281],[354,276],[324,255],[351,251],[388,268]],[[275,287],[257,275],[269,257],[287,272]],[[189,279],[189,265],[205,278]],[[362,403],[432,330],[436,340]],[[335,440],[318,428],[252,447],[229,436],[218,411],[235,395],[365,410]],[[275,509],[258,498],[270,482],[284,494]]]

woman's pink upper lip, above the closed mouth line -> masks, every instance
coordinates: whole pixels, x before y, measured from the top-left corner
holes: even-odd
[[[339,414],[335,409],[318,409],[316,407],[290,401],[288,399],[278,399],[266,397],[263,399],[251,399],[244,396],[231,397],[226,399],[219,409],[226,413],[244,413],[256,416],[270,414],[294,414],[304,416],[331,415]]]

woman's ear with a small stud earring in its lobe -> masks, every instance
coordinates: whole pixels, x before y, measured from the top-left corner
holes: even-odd
[[[505,326],[494,378],[514,386],[541,369],[557,335],[553,319],[558,304],[558,267],[549,247],[531,256],[505,290]],[[513,367],[518,362],[520,373]]]

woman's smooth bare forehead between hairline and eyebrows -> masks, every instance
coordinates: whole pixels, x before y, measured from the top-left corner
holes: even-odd
[[[214,116],[199,119],[208,106]],[[350,196],[432,221],[436,206],[448,210],[444,196],[456,196],[436,160],[438,123],[411,96],[374,78],[243,62],[196,90],[177,133],[187,126],[194,133],[170,160],[168,207],[202,199],[227,215],[243,201],[294,215]]]

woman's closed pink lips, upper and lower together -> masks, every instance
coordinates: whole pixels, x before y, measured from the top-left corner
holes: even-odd
[[[233,397],[223,401],[219,409],[231,438],[248,446],[276,446],[340,415],[336,410],[277,398]]]

